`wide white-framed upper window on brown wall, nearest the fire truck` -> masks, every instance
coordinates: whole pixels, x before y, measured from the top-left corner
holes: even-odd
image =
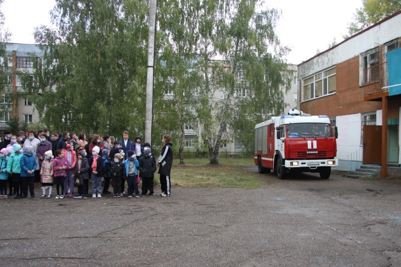
[[[316,73],[313,76],[302,80],[302,100],[317,98],[320,96],[335,93],[335,67]]]

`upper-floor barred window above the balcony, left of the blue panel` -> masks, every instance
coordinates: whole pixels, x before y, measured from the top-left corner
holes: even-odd
[[[379,79],[379,50],[375,48],[361,55],[361,68],[362,68],[362,82],[367,84],[369,82],[377,81]]]

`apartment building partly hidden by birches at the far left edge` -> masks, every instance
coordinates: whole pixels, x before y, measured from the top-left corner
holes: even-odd
[[[3,63],[7,60],[8,74],[6,90],[2,95],[0,129],[9,128],[7,121],[13,116],[19,117],[20,122],[32,123],[39,120],[35,106],[22,89],[17,71],[33,73],[34,58],[41,56],[42,50],[34,44],[6,43],[6,57],[1,60]],[[11,97],[12,94],[17,97]]]

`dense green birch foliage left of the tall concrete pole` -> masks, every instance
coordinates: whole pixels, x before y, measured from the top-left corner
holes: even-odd
[[[144,131],[147,12],[136,0],[57,1],[58,30],[36,28],[44,60],[34,63],[33,82],[22,78],[46,125]]]

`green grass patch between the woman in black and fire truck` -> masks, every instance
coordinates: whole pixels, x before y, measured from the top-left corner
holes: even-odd
[[[254,165],[249,158],[222,158],[219,164],[209,159],[192,158],[179,164],[173,162],[171,183],[183,187],[259,188],[258,172],[247,168]]]

